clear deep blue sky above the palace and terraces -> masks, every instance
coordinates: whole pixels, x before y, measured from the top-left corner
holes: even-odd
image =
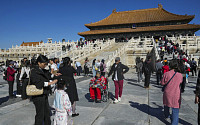
[[[102,20],[117,11],[163,8],[180,15],[195,15],[200,24],[200,0],[0,0],[0,48],[23,41],[78,40],[84,24]],[[200,32],[196,32],[200,35]]]

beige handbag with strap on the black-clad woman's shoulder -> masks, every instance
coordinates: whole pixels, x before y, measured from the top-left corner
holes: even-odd
[[[31,71],[30,71],[30,76],[31,76]],[[30,85],[30,77],[29,77],[29,82],[28,82],[28,85],[26,87],[26,94],[28,96],[42,95],[43,94],[43,88],[37,89],[35,85]]]

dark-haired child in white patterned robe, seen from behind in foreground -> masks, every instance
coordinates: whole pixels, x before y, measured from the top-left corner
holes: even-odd
[[[65,81],[60,79],[57,83],[55,91],[55,99],[53,107],[56,110],[54,117],[54,125],[71,125],[73,121],[69,121],[68,117],[72,115],[71,102],[68,94],[64,91]]]

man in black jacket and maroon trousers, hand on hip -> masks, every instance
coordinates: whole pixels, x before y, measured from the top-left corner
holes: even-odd
[[[123,71],[125,69],[125,71]],[[120,62],[120,58],[115,58],[115,63],[112,65],[110,72],[108,73],[108,77],[112,75],[112,80],[115,83],[115,100],[114,103],[121,101],[122,96],[122,90],[123,90],[123,79],[124,79],[124,73],[128,72],[129,68],[125,65],[123,65]],[[118,98],[119,95],[119,98]]]

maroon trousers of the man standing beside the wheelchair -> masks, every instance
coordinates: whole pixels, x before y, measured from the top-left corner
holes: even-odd
[[[118,95],[122,97],[122,90],[123,90],[123,80],[114,81],[115,83],[115,98],[118,99]]]

